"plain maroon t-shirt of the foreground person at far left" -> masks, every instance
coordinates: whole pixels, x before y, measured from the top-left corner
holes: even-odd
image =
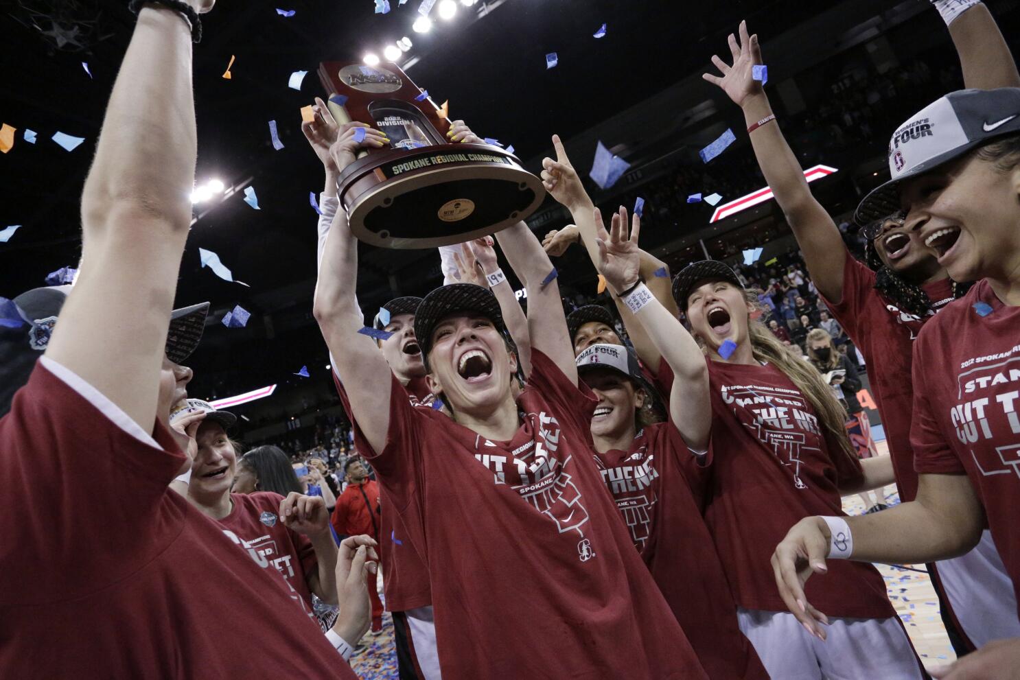
[[[0,675],[355,678],[268,560],[169,488],[169,432],[145,443],[47,365],[0,419]]]

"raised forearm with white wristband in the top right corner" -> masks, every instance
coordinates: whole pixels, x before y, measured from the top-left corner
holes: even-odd
[[[950,37],[960,55],[964,87],[977,90],[1020,88],[1020,73],[1017,73],[1013,53],[983,2],[976,2],[959,13],[953,8],[964,4],[959,0],[936,0],[932,4],[949,23]]]

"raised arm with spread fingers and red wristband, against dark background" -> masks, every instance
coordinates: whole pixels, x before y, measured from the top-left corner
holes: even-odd
[[[702,77],[719,86],[744,110],[745,122],[750,127],[773,113],[761,83],[752,77],[752,66],[762,63],[758,36],[748,36],[745,21],[741,21],[740,35],[740,43],[729,35],[732,65],[713,55],[712,63],[722,75],[705,73]],[[843,299],[843,268],[848,257],[838,227],[811,195],[801,164],[777,121],[763,123],[752,132],[751,145],[765,181],[797,237],[812,280],[827,300],[838,303]]]

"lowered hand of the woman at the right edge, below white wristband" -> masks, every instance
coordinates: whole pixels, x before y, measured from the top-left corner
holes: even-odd
[[[818,517],[805,517],[795,524],[772,554],[772,572],[779,596],[801,625],[816,637],[825,639],[828,618],[811,606],[804,595],[804,584],[814,573],[824,574],[828,555],[828,526]]]

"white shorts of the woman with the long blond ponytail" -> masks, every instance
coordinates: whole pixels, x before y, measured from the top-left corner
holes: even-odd
[[[923,680],[921,662],[897,617],[829,617],[823,642],[789,612],[736,608],[741,630],[772,678]]]

